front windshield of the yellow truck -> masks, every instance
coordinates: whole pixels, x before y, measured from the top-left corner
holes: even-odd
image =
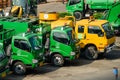
[[[112,30],[112,27],[110,24],[107,22],[102,25],[104,31],[106,32],[106,37],[107,39],[112,38],[114,36],[114,31]]]

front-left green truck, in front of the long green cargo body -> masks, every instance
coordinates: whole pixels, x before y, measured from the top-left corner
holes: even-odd
[[[1,23],[0,43],[10,59],[11,70],[15,74],[22,75],[26,73],[28,68],[42,66],[44,49],[41,46],[39,36],[30,32],[18,33],[17,30],[5,28],[3,25]]]

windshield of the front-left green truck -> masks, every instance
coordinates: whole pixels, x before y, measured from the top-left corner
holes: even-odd
[[[40,48],[40,46],[41,46],[41,41],[40,41],[40,39],[39,39],[38,36],[31,37],[31,38],[29,39],[29,41],[30,41],[30,44],[31,44],[31,46],[32,46],[33,49],[35,49],[35,48]]]

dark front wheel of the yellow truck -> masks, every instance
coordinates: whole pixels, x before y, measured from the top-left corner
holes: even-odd
[[[89,46],[86,50],[85,50],[85,57],[87,59],[90,59],[90,60],[95,60],[98,58],[98,52],[97,52],[97,49],[96,47],[94,46]]]

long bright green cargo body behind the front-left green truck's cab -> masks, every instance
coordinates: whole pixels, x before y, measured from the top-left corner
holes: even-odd
[[[15,29],[15,34],[19,34],[27,32],[28,28],[34,31],[38,26],[38,19],[2,17],[0,23],[3,24],[5,29]]]

